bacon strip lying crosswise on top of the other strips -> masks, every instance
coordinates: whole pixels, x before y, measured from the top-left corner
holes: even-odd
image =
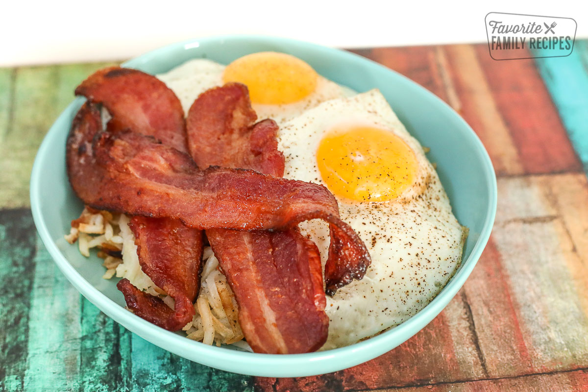
[[[101,133],[93,143],[96,162],[108,178],[86,204],[132,215],[172,217],[198,229],[289,229],[308,219],[345,228],[343,243],[365,245],[339,219],[333,195],[322,185],[262,175],[253,170],[209,167],[199,170],[176,149],[136,133]]]

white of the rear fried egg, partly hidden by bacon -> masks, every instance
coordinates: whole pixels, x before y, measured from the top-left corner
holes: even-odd
[[[225,66],[217,62],[208,59],[193,59],[167,73],[157,75],[157,77],[176,93],[180,102],[182,102],[184,112],[188,113],[190,106],[198,98],[198,95],[209,88],[224,84],[222,80],[224,71]],[[337,83],[319,76],[315,91],[298,102],[283,105],[252,103],[252,106],[258,115],[258,119],[271,118],[280,125],[306,110],[314,108],[321,102],[353,94],[354,92],[349,88],[339,86]]]

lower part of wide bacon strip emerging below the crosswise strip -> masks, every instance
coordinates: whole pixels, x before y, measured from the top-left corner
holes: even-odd
[[[256,353],[308,353],[328,335],[316,245],[296,230],[206,230],[239,304],[239,324]]]

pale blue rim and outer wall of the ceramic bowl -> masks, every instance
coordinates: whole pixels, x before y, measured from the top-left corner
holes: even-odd
[[[163,46],[162,48],[155,49],[154,51],[145,53],[141,56],[131,59],[128,62],[123,63],[123,66],[129,66],[133,68],[140,68],[142,64],[152,61],[153,58],[165,55],[165,53],[173,52],[181,48],[186,48],[189,45],[200,45],[202,43],[222,42],[225,40],[242,40],[244,42],[262,42],[262,43],[282,43],[286,45],[308,45],[312,48],[320,48],[325,51],[327,55],[337,56],[349,56],[361,58],[362,61],[371,63],[372,67],[380,67],[386,69],[387,72],[396,73],[397,76],[405,78],[405,76],[386,68],[376,62],[370,61],[369,59],[363,58],[355,53],[341,51],[339,49],[328,48],[325,46],[316,45],[313,43],[297,41],[286,38],[275,38],[270,36],[260,35],[225,35],[225,36],[212,36],[207,38],[196,38],[178,43],[172,43],[171,45]],[[405,78],[407,79],[407,78]],[[407,79],[409,80],[409,79]],[[422,86],[415,82],[413,88],[421,90],[426,94],[433,95],[433,93],[427,91]],[[157,346],[162,347],[165,350],[179,354],[184,357],[188,357],[193,361],[199,363],[220,368],[222,370],[233,371],[235,373],[250,374],[252,376],[265,376],[265,377],[296,377],[296,376],[312,376],[315,374],[329,373],[330,371],[342,370],[356,364],[363,363],[364,361],[373,359],[386,351],[389,351],[397,345],[403,343],[407,339],[410,339],[414,334],[420,331],[426,326],[437,314],[442,311],[447,303],[455,296],[457,291],[463,286],[465,280],[472,272],[473,267],[477,263],[483,249],[486,246],[487,240],[489,239],[490,232],[496,215],[496,203],[497,203],[497,187],[496,187],[496,175],[490,161],[489,155],[482,145],[482,142],[477,137],[475,132],[470,128],[469,125],[463,120],[449,105],[443,102],[441,99],[436,99],[446,106],[446,109],[450,110],[459,117],[459,122],[462,127],[465,127],[470,131],[470,142],[473,143],[476,149],[476,156],[482,160],[482,166],[484,172],[482,173],[485,177],[485,185],[488,190],[489,204],[486,207],[487,212],[483,228],[480,232],[480,236],[473,246],[472,252],[467,259],[462,260],[462,266],[459,271],[453,276],[452,280],[443,288],[443,290],[433,299],[425,308],[420,310],[415,316],[409,320],[403,322],[399,326],[393,327],[392,329],[385,331],[375,337],[360,341],[359,343],[352,344],[346,347],[340,347],[339,349],[333,349],[328,351],[319,351],[315,353],[306,354],[256,354],[244,351],[227,350],[222,347],[207,346],[205,344],[190,341],[186,337],[178,334],[163,330],[155,325],[148,323],[138,316],[135,316],[131,312],[127,311],[123,307],[116,304],[114,301],[109,299],[99,292],[91,283],[85,280],[81,274],[79,274],[74,267],[68,262],[64,254],[56,246],[55,241],[52,239],[49,229],[46,226],[44,216],[41,211],[41,189],[39,188],[39,178],[42,176],[43,165],[42,162],[46,159],[51,146],[52,139],[59,132],[65,132],[62,123],[66,121],[68,116],[71,115],[71,111],[76,106],[81,105],[83,98],[76,98],[68,108],[61,113],[54,125],[49,129],[49,132],[45,135],[45,138],[38,150],[35,158],[34,166],[31,173],[31,210],[34,217],[34,222],[37,230],[41,236],[43,243],[51,254],[55,263],[59,269],[65,274],[68,280],[83,294],[89,301],[95,304],[100,310],[106,313],[109,317],[116,320],[118,323],[127,329],[133,331],[139,336],[143,337]],[[68,128],[69,129],[69,128]],[[183,347],[187,344],[191,344],[195,351],[195,355],[186,356],[183,353]],[[181,353],[181,354],[180,354]],[[198,354],[198,355],[196,355]],[[279,370],[276,370],[279,369]]]

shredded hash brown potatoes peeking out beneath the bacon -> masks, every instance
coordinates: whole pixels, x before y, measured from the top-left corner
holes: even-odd
[[[78,241],[79,252],[89,257],[96,249],[98,257],[104,259],[104,279],[113,276],[126,277],[131,283],[153,296],[160,297],[173,309],[173,298],[168,296],[142,272],[136,255],[135,236],[128,227],[129,217],[86,207],[78,219],[72,221],[65,240],[71,244]],[[198,300],[194,304],[196,315],[183,327],[188,339],[205,344],[233,344],[239,349],[252,351],[243,340],[239,326],[239,308],[235,296],[219,270],[219,263],[207,246],[202,254],[202,283]]]

